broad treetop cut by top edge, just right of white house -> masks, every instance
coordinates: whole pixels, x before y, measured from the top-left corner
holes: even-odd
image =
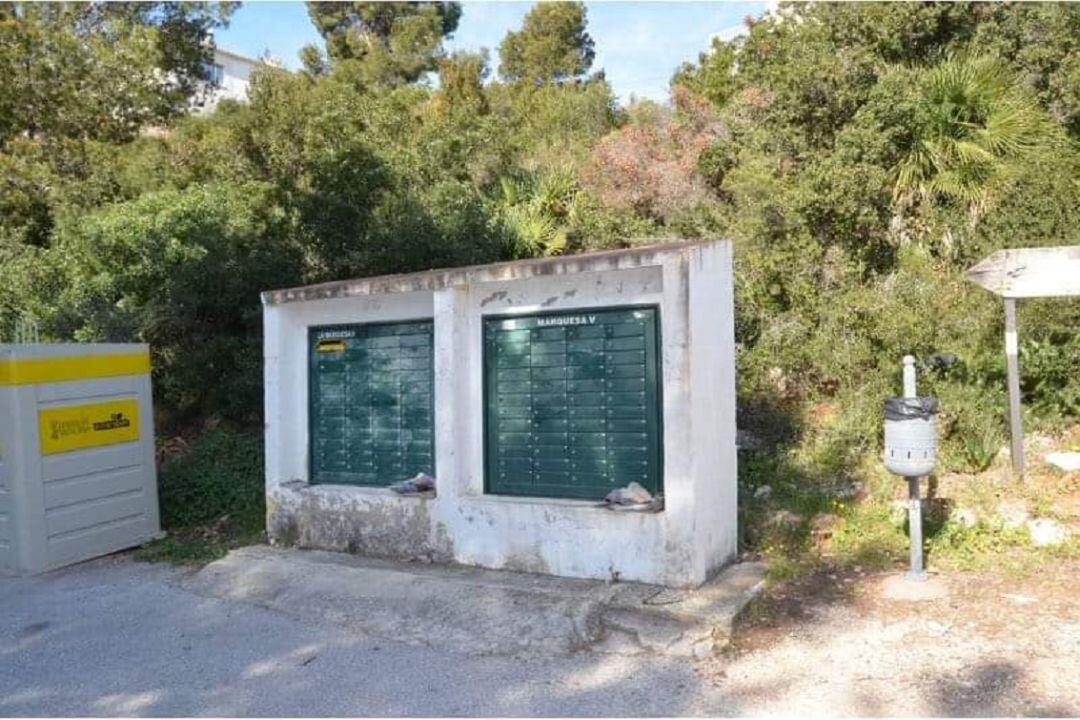
[[[461,18],[457,2],[309,2],[330,63],[362,83],[401,84],[436,68],[443,39]],[[310,51],[305,65],[319,67]]]

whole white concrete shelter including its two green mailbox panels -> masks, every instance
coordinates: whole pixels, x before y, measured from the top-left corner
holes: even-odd
[[[694,586],[737,552],[728,241],[262,294],[273,543]],[[418,472],[434,493],[388,485]],[[658,512],[599,501],[635,480]]]

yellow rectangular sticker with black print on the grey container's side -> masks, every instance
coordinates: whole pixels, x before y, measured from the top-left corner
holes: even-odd
[[[41,454],[70,452],[138,439],[135,399],[68,405],[38,411]]]

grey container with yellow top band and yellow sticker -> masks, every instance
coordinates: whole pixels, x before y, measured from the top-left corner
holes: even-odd
[[[0,345],[0,573],[159,534],[148,348]]]

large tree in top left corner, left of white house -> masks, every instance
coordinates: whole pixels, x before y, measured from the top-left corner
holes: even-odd
[[[124,141],[185,112],[237,3],[0,5],[0,149],[15,137]]]

